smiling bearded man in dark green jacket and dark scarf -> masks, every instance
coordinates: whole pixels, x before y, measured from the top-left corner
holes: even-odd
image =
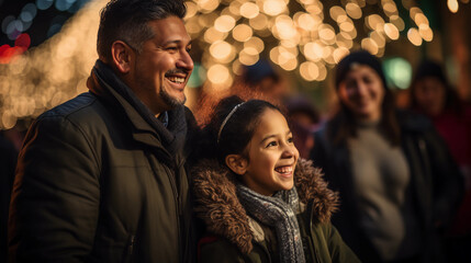
[[[181,0],[102,10],[90,92],[40,116],[21,150],[12,262],[191,260],[184,13]]]

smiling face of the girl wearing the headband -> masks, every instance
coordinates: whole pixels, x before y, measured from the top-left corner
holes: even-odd
[[[248,146],[243,181],[247,187],[262,195],[273,195],[293,187],[294,168],[300,153],[284,116],[266,110]]]

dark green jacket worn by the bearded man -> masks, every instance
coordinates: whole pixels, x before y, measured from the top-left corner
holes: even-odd
[[[88,85],[92,92],[44,113],[26,135],[10,261],[188,262],[183,149],[171,155],[148,116],[96,71]],[[183,106],[169,112],[169,129],[183,135],[175,144],[186,138],[186,116],[192,117]]]

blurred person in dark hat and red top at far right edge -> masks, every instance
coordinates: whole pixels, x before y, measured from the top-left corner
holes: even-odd
[[[464,176],[466,195],[447,240],[453,262],[471,262],[471,106],[460,101],[442,67],[424,60],[411,85],[411,107],[430,117]]]

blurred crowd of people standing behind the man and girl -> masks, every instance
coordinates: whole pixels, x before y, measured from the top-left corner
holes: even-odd
[[[360,260],[470,262],[471,106],[442,65],[416,67],[408,108],[396,107],[380,60],[368,52],[352,52],[334,71],[339,103],[327,114],[310,94],[293,94],[267,60],[245,67],[227,95],[284,110],[300,156],[339,193],[333,222]],[[200,123],[220,98],[201,94],[194,108]],[[21,136],[0,134],[0,261]]]

